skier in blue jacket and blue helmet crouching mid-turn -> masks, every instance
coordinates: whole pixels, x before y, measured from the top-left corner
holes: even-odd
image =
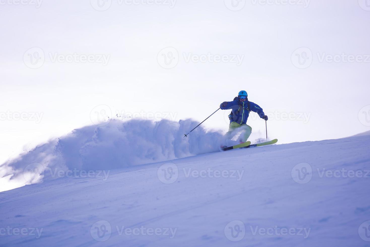
[[[225,101],[220,107],[221,110],[232,109],[229,115],[229,131],[226,133],[226,136],[231,139],[233,137],[231,136],[233,131],[238,129],[242,132],[240,143],[246,142],[252,133],[252,127],[246,124],[250,111],[258,113],[261,119],[265,121],[268,120],[268,117],[263,113],[262,108],[259,107],[258,104],[248,101],[248,94],[244,90],[240,91],[238,97],[235,97],[233,101]]]

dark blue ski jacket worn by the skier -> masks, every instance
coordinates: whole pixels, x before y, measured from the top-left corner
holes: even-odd
[[[248,109],[248,102],[250,109]],[[258,113],[260,118],[265,116],[265,113],[263,113],[262,108],[258,104],[255,104],[251,101],[240,102],[239,100],[234,100],[226,103],[228,103],[226,107],[222,106],[220,107],[222,110],[232,109],[233,114],[229,116],[230,123],[236,122],[238,124],[246,124],[250,111]]]

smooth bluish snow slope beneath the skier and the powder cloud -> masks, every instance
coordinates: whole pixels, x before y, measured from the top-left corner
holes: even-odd
[[[370,170],[369,149],[370,136],[358,136],[111,168],[105,181],[104,177],[40,180],[0,193],[0,228],[43,228],[40,238],[6,234],[0,236],[0,246],[369,246],[359,228],[370,220],[370,178],[320,177],[323,168]],[[169,162],[177,166],[178,178],[164,184],[157,171]],[[297,183],[301,180],[292,175],[300,163],[312,167],[307,183]],[[188,169],[208,168],[239,170],[243,176],[239,181],[185,176]],[[91,228],[101,220],[110,224],[111,235],[100,242]],[[225,234],[225,227],[235,220],[245,226],[240,241]],[[173,238],[120,235],[123,226],[177,230]],[[253,235],[256,227],[275,226],[310,232],[307,238],[304,232]]]

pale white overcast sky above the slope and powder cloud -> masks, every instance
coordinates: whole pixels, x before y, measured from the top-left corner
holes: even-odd
[[[240,90],[268,114],[269,136],[280,143],[370,129],[366,0],[97,1],[0,0],[0,164],[92,124],[96,106],[108,106],[112,115],[172,113],[175,121],[202,121]],[[32,69],[30,56],[40,49],[44,63]],[[168,60],[173,68],[164,68],[161,51],[167,59],[175,51]],[[74,53],[109,60],[53,62]],[[186,61],[203,54],[243,60]],[[335,55],[339,60],[331,62]],[[14,120],[14,113],[42,117]],[[203,125],[226,131],[227,113]],[[291,120],[277,119],[287,114]],[[259,118],[248,124],[265,132]]]

